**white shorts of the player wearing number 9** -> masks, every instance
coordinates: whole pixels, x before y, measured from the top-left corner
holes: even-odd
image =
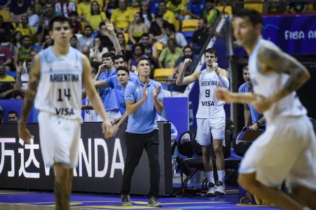
[[[196,140],[201,146],[208,146],[213,140],[225,140],[225,116],[217,118],[197,118]]]

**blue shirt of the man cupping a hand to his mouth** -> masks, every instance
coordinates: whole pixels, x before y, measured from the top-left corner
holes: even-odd
[[[110,72],[104,71],[100,74],[98,80],[104,80],[109,78],[112,75],[116,75],[117,70],[114,69]],[[115,96],[115,91],[112,91],[112,88],[99,88],[99,95],[102,99],[103,105],[106,111],[118,109],[118,103],[114,103],[117,101]]]

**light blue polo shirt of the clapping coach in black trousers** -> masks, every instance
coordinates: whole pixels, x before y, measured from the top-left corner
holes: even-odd
[[[139,78],[128,82],[125,88],[125,102],[132,101],[135,104],[143,98],[144,85]],[[152,132],[157,127],[157,110],[154,105],[153,91],[161,86],[159,82],[149,80],[147,86],[148,97],[146,101],[128,117],[126,132],[134,134],[146,134]],[[157,99],[163,100],[162,88],[158,93]]]

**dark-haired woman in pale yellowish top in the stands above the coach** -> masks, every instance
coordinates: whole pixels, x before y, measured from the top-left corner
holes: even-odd
[[[148,26],[144,23],[144,18],[140,12],[135,13],[134,21],[128,27],[129,41],[136,44],[144,33],[148,32]]]

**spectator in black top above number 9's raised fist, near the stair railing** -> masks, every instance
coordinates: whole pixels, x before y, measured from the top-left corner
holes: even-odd
[[[197,31],[193,33],[190,46],[193,47],[193,52],[198,55],[209,36],[207,23],[204,18],[200,18],[197,23]]]

